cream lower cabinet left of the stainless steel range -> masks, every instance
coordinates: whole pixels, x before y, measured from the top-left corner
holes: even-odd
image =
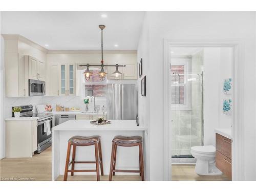
[[[32,157],[36,150],[36,119],[6,121],[6,158]]]

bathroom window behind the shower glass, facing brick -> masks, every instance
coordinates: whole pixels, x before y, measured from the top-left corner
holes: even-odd
[[[172,108],[191,110],[191,84],[187,81],[190,73],[190,58],[173,58],[170,66]]]

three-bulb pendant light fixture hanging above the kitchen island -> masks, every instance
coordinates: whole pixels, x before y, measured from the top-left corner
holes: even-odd
[[[86,78],[86,80],[90,80],[90,76],[92,76],[92,73],[89,70],[89,67],[91,66],[95,66],[95,67],[101,67],[99,74],[99,79],[101,81],[105,80],[106,78],[106,72],[104,71],[104,67],[116,67],[116,71],[113,73],[116,77],[118,77],[119,75],[121,75],[122,73],[120,73],[118,71],[118,67],[125,67],[125,65],[104,65],[104,61],[103,61],[103,29],[105,29],[104,25],[99,25],[99,28],[101,30],[101,65],[90,65],[89,63],[87,63],[87,65],[79,65],[81,67],[87,67],[87,69],[83,72],[84,77]]]

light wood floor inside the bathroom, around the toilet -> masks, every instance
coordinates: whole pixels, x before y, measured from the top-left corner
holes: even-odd
[[[195,165],[172,165],[172,181],[230,181],[221,176],[200,176],[195,172]]]

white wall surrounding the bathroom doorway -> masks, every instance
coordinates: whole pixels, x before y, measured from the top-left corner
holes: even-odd
[[[240,39],[244,54],[244,180],[256,180],[255,155],[255,13],[254,12],[147,12],[149,34],[147,49],[147,86],[150,98],[146,104],[159,100],[150,108],[148,131],[150,132],[150,178],[163,180],[163,39]],[[138,53],[145,46],[138,47]],[[142,103],[140,104],[142,105]],[[141,106],[140,106],[141,107]],[[146,112],[143,112],[146,113]],[[253,150],[252,150],[253,149]]]

